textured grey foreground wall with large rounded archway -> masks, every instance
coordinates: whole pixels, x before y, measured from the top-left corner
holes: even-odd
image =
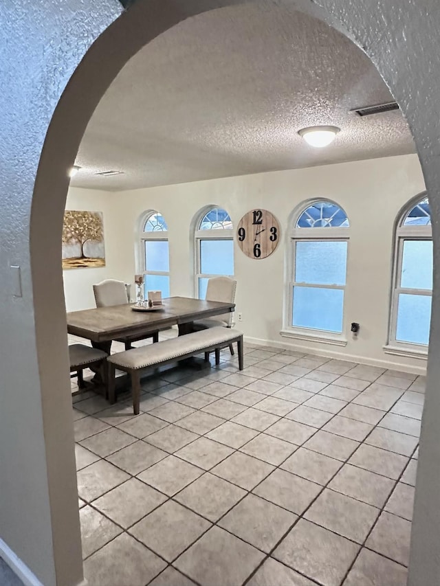
[[[60,257],[67,193],[65,170],[73,164],[96,104],[135,52],[183,19],[243,1],[138,0],[119,18],[122,8],[115,0],[90,2],[87,12],[79,0],[63,5],[56,0],[44,5],[16,0],[8,8],[0,8],[9,41],[1,79],[10,87],[10,93],[0,98],[0,161],[5,169],[0,183],[5,200],[0,220],[5,234],[0,280],[5,295],[0,307],[2,331],[15,341],[2,340],[0,349],[3,381],[16,391],[15,395],[5,393],[1,413],[5,440],[0,464],[9,480],[3,491],[6,504],[0,511],[0,525],[11,526],[2,537],[45,584],[69,585],[80,579],[61,263],[47,262],[48,258]],[[440,171],[436,162],[440,117],[438,113],[434,116],[438,106],[433,104],[437,104],[440,80],[440,65],[434,60],[440,8],[432,0],[399,8],[384,3],[380,10],[377,3],[364,0],[290,3],[350,36],[373,60],[408,119],[430,193],[432,215],[439,218]],[[426,109],[427,102],[432,110]],[[437,242],[439,227],[435,221],[433,233]],[[10,268],[15,265],[21,267],[21,283],[19,269]],[[433,359],[440,355],[437,271],[432,316],[428,406],[423,418],[412,537],[412,585],[437,583],[439,574],[434,550],[440,534],[440,512],[435,506],[440,456],[434,441],[440,415],[434,380],[440,376],[440,363]],[[19,357],[17,342],[21,343]],[[8,449],[20,444],[26,426],[32,426],[34,442],[32,449],[27,445],[20,454],[15,468],[21,466],[21,471],[17,471],[8,458]],[[43,471],[35,471],[33,461],[43,462]],[[32,482],[29,471],[35,474]],[[17,496],[15,486],[21,486]],[[26,506],[31,511],[37,510],[26,526],[17,523],[14,515],[14,507],[20,506],[19,497],[21,502],[28,499]],[[28,537],[19,539],[23,534]],[[34,550],[36,539],[42,547],[44,542],[50,554],[42,556]]]

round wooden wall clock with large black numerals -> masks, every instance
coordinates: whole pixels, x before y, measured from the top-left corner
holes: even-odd
[[[249,258],[266,258],[278,246],[280,225],[267,210],[251,210],[241,218],[236,238],[239,247]]]

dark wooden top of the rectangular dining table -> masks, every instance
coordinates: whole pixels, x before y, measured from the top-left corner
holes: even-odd
[[[111,341],[142,337],[178,326],[179,335],[192,330],[192,322],[234,311],[234,303],[205,301],[192,297],[168,297],[157,311],[133,311],[133,304],[98,307],[67,313],[67,333],[91,341],[96,348],[110,348]],[[107,351],[107,350],[106,350]],[[109,350],[108,350],[109,353]]]

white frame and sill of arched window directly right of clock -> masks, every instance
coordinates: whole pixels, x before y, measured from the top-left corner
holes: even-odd
[[[297,227],[298,218],[307,210],[308,207],[319,203],[321,201],[333,203],[341,208],[341,210],[349,217],[344,208],[336,201],[329,199],[314,199],[302,203],[296,208],[290,218],[289,224],[292,226],[290,230],[290,237],[287,239],[287,255],[286,255],[286,271],[285,271],[285,302],[284,302],[284,317],[283,328],[280,335],[283,337],[303,339],[305,341],[317,341],[320,343],[333,344],[334,346],[347,346],[347,338],[345,335],[346,316],[344,308],[346,306],[347,293],[347,270],[349,267],[349,240],[350,240],[350,226],[344,227]],[[318,241],[339,241],[347,242],[347,264],[346,264],[346,281],[344,285],[320,285],[308,283],[295,282],[295,268],[296,268],[296,243],[298,242],[318,242]],[[322,289],[342,289],[344,291],[344,301],[342,306],[342,331],[331,332],[329,330],[319,330],[316,328],[305,328],[303,326],[292,325],[293,319],[293,301],[294,301],[294,286],[313,286]]]

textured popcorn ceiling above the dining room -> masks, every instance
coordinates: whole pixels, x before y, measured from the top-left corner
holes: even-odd
[[[146,45],[89,122],[71,184],[124,190],[414,153],[399,111],[350,110],[393,100],[342,34],[280,3],[214,10]],[[297,131],[333,124],[331,146]],[[94,173],[124,174],[98,177]]]

